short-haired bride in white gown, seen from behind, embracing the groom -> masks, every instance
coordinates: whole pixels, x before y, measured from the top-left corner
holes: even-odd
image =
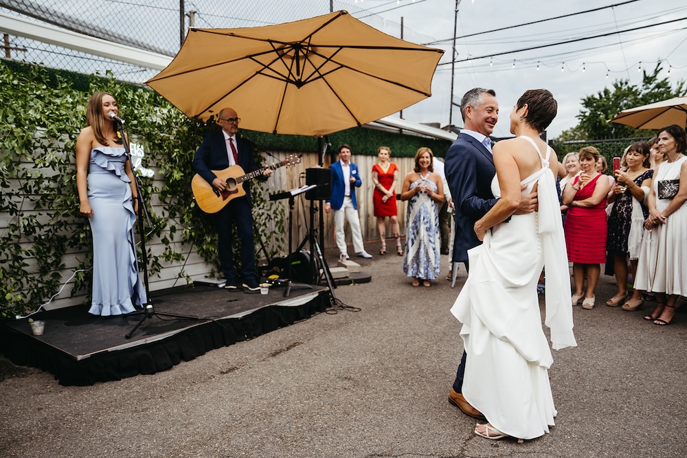
[[[513,107],[510,132],[517,138],[494,146],[492,190],[500,198],[475,222],[477,238],[484,243],[468,252],[469,277],[451,308],[463,323],[460,336],[468,355],[463,396],[488,420],[475,427],[475,434],[487,439],[534,439],[554,425],[548,378],[553,358],[537,298],[543,267],[545,324],[552,346],[559,350],[577,345],[554,179],[559,164],[539,138],[557,108],[545,89],[526,91]],[[539,210],[515,215],[520,194],[535,190]]]

